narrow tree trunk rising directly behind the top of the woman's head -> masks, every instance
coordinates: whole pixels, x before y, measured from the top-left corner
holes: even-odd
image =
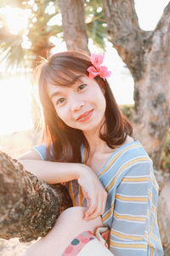
[[[83,0],[59,0],[62,27],[67,49],[82,50],[88,53]]]

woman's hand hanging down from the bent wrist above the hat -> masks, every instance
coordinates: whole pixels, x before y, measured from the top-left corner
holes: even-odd
[[[77,181],[82,187],[82,193],[87,200],[88,210],[85,212],[84,219],[89,220],[102,215],[105,212],[107,192],[99,178],[91,168],[84,166],[84,170],[79,172]]]

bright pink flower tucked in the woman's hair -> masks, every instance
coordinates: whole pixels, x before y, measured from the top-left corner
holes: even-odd
[[[103,55],[91,55],[91,62],[93,66],[88,67],[90,79],[94,79],[97,76],[100,76],[102,79],[109,78],[111,76],[111,71],[108,71],[107,67],[101,66],[104,60],[105,53]]]

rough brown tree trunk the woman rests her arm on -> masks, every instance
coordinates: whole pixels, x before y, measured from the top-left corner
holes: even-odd
[[[0,152],[0,238],[19,237],[20,241],[46,236],[56,218],[71,207],[64,186],[49,186]]]

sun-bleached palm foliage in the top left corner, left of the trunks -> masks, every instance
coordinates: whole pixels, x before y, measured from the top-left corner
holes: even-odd
[[[50,3],[55,3],[50,1]],[[0,7],[4,7],[7,0],[3,0]],[[4,5],[3,5],[4,4]],[[56,36],[57,33],[62,32],[61,26],[48,26],[49,20],[59,14],[57,4],[53,6],[52,13],[47,12],[48,0],[34,0],[34,1],[14,1],[12,7],[23,9],[26,14],[29,14],[28,25],[26,28],[20,30],[17,35],[8,31],[6,26],[5,15],[2,15],[0,22],[0,61],[5,61],[7,70],[11,67],[31,67],[31,63],[37,60],[41,55],[46,56],[48,49],[54,46],[49,43],[48,39],[51,36]],[[8,6],[11,6],[8,3]],[[24,39],[31,44],[31,47],[23,47]]]

